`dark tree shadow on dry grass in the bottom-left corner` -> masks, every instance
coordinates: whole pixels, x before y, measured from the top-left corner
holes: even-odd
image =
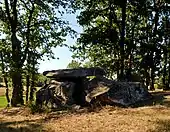
[[[3,122],[0,121],[0,132],[40,132],[43,131],[42,125],[37,123],[39,120],[24,120]]]

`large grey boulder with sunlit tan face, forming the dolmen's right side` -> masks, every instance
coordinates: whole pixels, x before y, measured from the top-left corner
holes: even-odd
[[[152,96],[139,82],[119,82],[104,77],[89,82],[86,101],[100,101],[104,104],[130,106]]]

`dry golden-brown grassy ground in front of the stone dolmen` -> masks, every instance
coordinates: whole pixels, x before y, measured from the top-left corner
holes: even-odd
[[[88,112],[30,114],[28,108],[0,110],[0,132],[170,132],[169,92],[153,93],[152,106],[105,106]]]

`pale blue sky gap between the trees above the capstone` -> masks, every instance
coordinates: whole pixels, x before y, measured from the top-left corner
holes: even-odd
[[[77,31],[78,33],[82,32],[82,27],[79,26],[76,20],[76,16],[78,13],[75,14],[68,14],[65,15],[64,18],[70,22],[71,27]],[[76,42],[76,38],[72,39],[71,37],[66,37],[66,44],[67,45],[73,45]],[[39,66],[39,73],[42,73],[46,70],[57,70],[57,69],[63,69],[66,68],[68,63],[71,62],[72,53],[69,51],[66,47],[57,47],[53,48],[53,53],[55,54],[55,58],[59,57],[58,59],[50,59],[44,58],[45,61],[40,61]]]

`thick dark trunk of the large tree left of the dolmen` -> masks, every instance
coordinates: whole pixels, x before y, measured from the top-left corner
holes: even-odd
[[[13,92],[11,105],[17,106],[18,104],[24,104],[23,100],[23,87],[22,87],[22,65],[21,63],[21,42],[17,39],[17,24],[18,24],[18,14],[17,14],[17,2],[18,0],[5,1],[5,9],[7,14],[7,19],[9,21],[9,30],[11,30],[11,43],[12,43],[12,83]]]

